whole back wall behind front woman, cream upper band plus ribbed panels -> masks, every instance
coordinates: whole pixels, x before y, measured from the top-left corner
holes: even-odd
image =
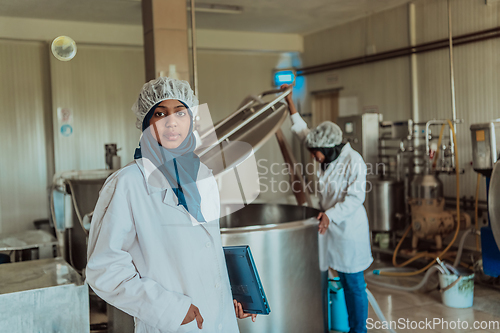
[[[77,42],[69,62],[49,53],[59,35]],[[296,34],[198,30],[197,36],[200,100],[216,121],[248,94],[271,88],[282,52],[303,48]],[[132,160],[140,133],[130,108],[144,83],[142,27],[0,17],[0,73],[0,233],[12,233],[48,218],[54,170],[104,168],[105,143],[122,148],[122,165]],[[68,137],[60,134],[58,108],[72,112]],[[272,139],[257,158],[276,156],[281,162]]]

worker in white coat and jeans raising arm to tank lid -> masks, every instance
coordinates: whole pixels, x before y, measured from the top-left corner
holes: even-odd
[[[286,89],[284,85],[282,88]],[[363,271],[372,263],[368,218],[365,201],[366,164],[349,143],[342,143],[342,130],[332,122],[324,122],[309,130],[292,101],[289,106],[292,132],[301,140],[315,160],[318,192],[322,212],[318,215],[320,266],[323,273],[324,297],[328,267],[335,269],[344,287],[350,332],[366,332],[368,298]],[[326,318],[326,304],[324,302]],[[327,323],[325,322],[325,331]]]

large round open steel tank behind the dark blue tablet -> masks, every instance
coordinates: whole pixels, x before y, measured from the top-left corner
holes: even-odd
[[[239,320],[242,333],[323,332],[318,213],[302,206],[250,204],[220,220],[224,246],[250,246],[271,308],[255,323]]]

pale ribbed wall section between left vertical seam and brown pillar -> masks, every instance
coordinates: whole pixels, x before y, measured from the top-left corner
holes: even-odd
[[[131,106],[144,83],[141,47],[79,45],[69,62],[50,57],[56,173],[105,169],[104,144],[116,143],[122,166],[133,160],[140,131]],[[65,136],[59,109],[68,109]],[[59,111],[60,113],[60,111]]]

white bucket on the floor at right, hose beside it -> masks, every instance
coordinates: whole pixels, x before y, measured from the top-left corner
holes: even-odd
[[[441,299],[450,308],[470,308],[474,301],[474,273],[439,274]]]

